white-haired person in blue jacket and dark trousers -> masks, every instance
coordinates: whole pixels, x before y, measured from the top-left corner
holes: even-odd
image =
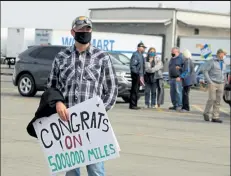
[[[184,66],[182,68],[182,74],[180,76],[183,83],[183,92],[182,92],[183,111],[190,111],[189,92],[191,86],[196,84],[196,73],[191,58],[192,58],[191,52],[187,49],[184,50],[183,52]]]

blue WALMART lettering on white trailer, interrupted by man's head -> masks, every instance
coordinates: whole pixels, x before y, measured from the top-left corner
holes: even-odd
[[[62,37],[62,45],[74,45],[75,40],[73,37]],[[104,51],[113,51],[115,40],[113,39],[92,39],[91,44]]]

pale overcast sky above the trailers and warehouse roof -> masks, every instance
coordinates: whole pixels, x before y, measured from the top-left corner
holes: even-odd
[[[1,27],[69,29],[89,8],[157,7],[161,1],[1,1]],[[165,7],[229,13],[230,1],[162,1]]]

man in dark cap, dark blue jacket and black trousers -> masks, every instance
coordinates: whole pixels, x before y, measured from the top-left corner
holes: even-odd
[[[130,69],[132,77],[132,88],[130,94],[130,109],[138,110],[137,106],[140,84],[144,85],[144,56],[143,53],[147,47],[141,42],[137,46],[137,51],[132,54]]]

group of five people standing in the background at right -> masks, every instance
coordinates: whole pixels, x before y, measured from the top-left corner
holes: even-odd
[[[145,108],[158,108],[164,104],[163,62],[157,56],[156,49],[151,47],[144,57],[145,45],[139,43],[130,62],[132,89],[130,109],[141,109],[137,106],[139,87],[145,86]],[[205,63],[204,76],[208,83],[209,98],[203,113],[205,121],[221,123],[219,119],[220,101],[224,88],[223,62],[226,52],[217,51],[217,56]],[[178,112],[190,111],[189,93],[192,85],[197,83],[192,54],[188,49],[182,53],[178,47],[173,47],[169,61],[169,83],[172,107]],[[150,99],[151,98],[151,99]],[[157,105],[157,106],[156,106]],[[213,113],[211,114],[211,108]]]

